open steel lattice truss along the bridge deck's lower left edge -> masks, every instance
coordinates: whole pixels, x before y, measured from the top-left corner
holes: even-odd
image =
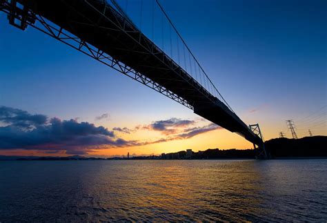
[[[188,101],[166,89],[164,86],[157,84],[155,81],[152,81],[152,79],[142,75],[140,72],[137,72],[126,64],[121,63],[121,61],[106,54],[106,52],[103,52],[99,48],[90,45],[79,37],[72,35],[67,30],[51,23],[47,19],[44,19],[41,17],[41,15],[35,14],[31,10],[20,8],[19,3],[17,3],[17,0],[12,0],[10,3],[6,0],[0,0],[0,10],[8,14],[8,19],[12,26],[20,28],[21,30],[25,30],[28,26],[32,26],[46,35],[49,35],[50,37],[57,39],[72,48],[75,48],[75,50],[83,52],[83,54],[96,59],[102,64],[121,72],[123,75],[126,75],[135,81],[156,90],[162,95],[177,101],[179,104],[182,104],[192,110],[194,109],[193,106],[188,103]]]

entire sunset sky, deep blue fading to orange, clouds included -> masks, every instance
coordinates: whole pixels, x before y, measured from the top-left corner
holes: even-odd
[[[299,137],[308,128],[327,135],[327,1],[161,3],[228,104],[246,124],[259,123],[264,139],[291,137],[286,119]],[[33,28],[10,26],[0,12],[0,155],[187,148],[252,144]]]

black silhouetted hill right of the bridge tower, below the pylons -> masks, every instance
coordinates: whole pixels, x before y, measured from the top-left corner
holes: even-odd
[[[265,142],[265,146],[273,158],[327,157],[327,136],[270,139]]]

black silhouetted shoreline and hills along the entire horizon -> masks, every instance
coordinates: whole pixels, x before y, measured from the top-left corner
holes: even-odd
[[[284,157],[327,157],[327,136],[304,137],[301,139],[277,138],[265,142],[265,147],[272,158]],[[206,151],[192,152],[187,156],[186,151],[167,153],[161,156],[130,157],[130,159],[253,159],[255,151],[246,150],[219,150],[208,149]],[[104,158],[83,157],[72,155],[70,157],[36,157],[36,156],[6,156],[0,155],[0,160],[102,160]],[[126,159],[111,157],[107,159]]]

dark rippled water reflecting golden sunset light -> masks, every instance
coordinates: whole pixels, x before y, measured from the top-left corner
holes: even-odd
[[[327,159],[0,162],[0,222],[327,220]]]

